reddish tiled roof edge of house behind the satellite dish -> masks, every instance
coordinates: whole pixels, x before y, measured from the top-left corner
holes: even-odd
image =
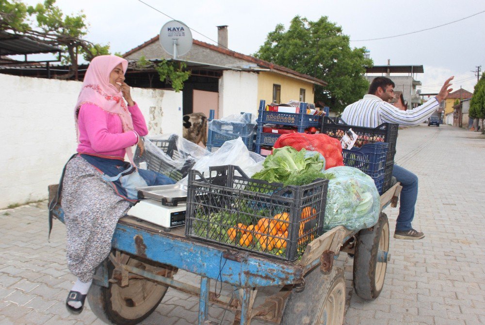
[[[159,40],[159,37],[160,36],[157,35],[157,36],[151,38],[150,40],[146,41],[145,43],[137,46],[136,48],[130,49],[128,52],[126,52],[125,54],[123,54],[123,57],[127,57],[130,54],[133,54],[134,52],[136,52],[136,51],[138,51],[140,49],[143,49],[146,46],[148,46],[148,45],[150,45],[150,44],[152,44],[154,42],[157,42]],[[211,50],[214,50],[214,51],[217,51],[219,53],[223,53],[223,54],[226,54],[226,55],[229,55],[229,56],[233,56],[235,58],[242,59],[244,61],[248,61],[248,62],[255,63],[255,64],[259,65],[259,66],[262,66],[262,67],[265,67],[265,68],[268,68],[268,69],[275,70],[275,72],[283,72],[283,73],[291,74],[291,75],[293,75],[295,77],[299,77],[299,78],[307,79],[309,81],[313,81],[314,83],[319,84],[319,85],[322,85],[322,86],[326,86],[327,85],[327,82],[325,82],[325,81],[323,81],[321,79],[318,79],[318,78],[315,78],[315,77],[306,75],[304,73],[300,73],[300,72],[291,70],[290,68],[287,68],[287,67],[282,66],[282,65],[275,65],[275,64],[273,64],[271,62],[264,61],[264,60],[260,60],[258,58],[255,58],[254,56],[250,56],[250,55],[245,55],[245,54],[242,54],[242,53],[238,53],[238,52],[232,51],[230,49],[223,49],[221,47],[218,47],[218,46],[215,46],[215,45],[212,45],[212,44],[209,44],[209,43],[201,42],[201,41],[198,41],[196,39],[193,40],[192,44],[195,44],[195,45],[198,45],[198,46],[207,48],[207,49],[211,49]]]

